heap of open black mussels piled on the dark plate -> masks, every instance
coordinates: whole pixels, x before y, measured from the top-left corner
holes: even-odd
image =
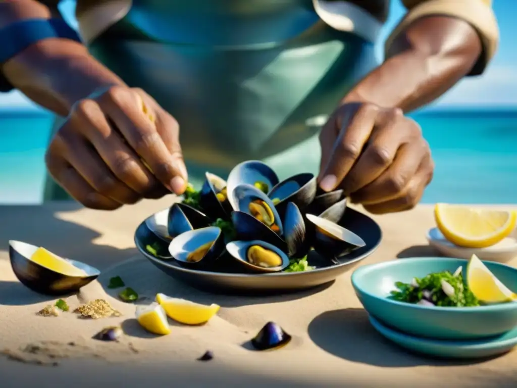
[[[319,191],[310,173],[279,182],[265,163],[245,161],[227,181],[207,172],[199,203],[200,208],[175,203],[166,221],[149,219],[149,229],[169,244],[170,256],[162,259],[209,270],[231,258],[243,272],[267,273],[311,252],[336,262],[366,245],[338,225],[346,208],[342,190]],[[216,220],[233,224],[234,236],[214,226]]]

